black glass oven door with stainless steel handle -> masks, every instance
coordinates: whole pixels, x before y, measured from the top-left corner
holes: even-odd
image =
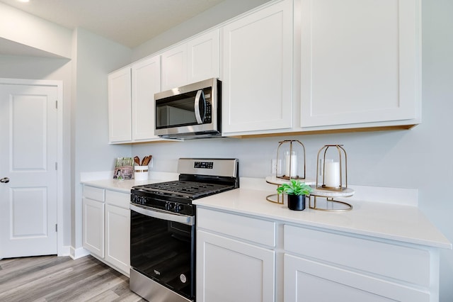
[[[195,296],[195,216],[131,203],[130,265],[192,300]]]

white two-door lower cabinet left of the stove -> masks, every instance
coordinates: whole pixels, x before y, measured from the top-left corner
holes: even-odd
[[[130,194],[84,186],[83,246],[129,276]]]

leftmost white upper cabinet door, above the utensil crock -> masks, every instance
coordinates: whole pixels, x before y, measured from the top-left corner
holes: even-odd
[[[130,142],[131,129],[130,67],[108,75],[109,142]]]

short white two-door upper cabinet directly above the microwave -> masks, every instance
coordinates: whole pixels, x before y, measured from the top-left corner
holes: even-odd
[[[219,29],[172,47],[161,57],[163,91],[219,77]]]

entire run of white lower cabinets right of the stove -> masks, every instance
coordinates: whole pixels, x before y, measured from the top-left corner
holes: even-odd
[[[439,251],[197,208],[197,300],[435,302]]]

